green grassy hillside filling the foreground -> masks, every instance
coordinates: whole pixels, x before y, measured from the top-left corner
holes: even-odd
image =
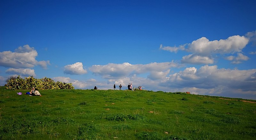
[[[0,87],[0,139],[256,139],[254,100],[162,91]],[[22,95],[17,95],[22,92]]]

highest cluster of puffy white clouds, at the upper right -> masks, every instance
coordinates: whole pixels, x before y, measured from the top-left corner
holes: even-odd
[[[255,33],[247,33],[245,36],[231,36],[228,39],[220,39],[210,41],[209,39],[202,37],[200,39],[192,41],[192,43],[187,43],[185,45],[180,45],[179,47],[170,47],[162,45],[161,50],[170,51],[177,53],[179,50],[187,51],[192,54],[182,57],[182,63],[189,64],[213,64],[215,54],[233,54],[237,53],[237,57],[232,56],[226,57],[227,60],[232,61],[233,64],[241,63],[242,61],[247,61],[249,58],[242,54],[243,48],[249,43],[249,40],[253,40]],[[253,53],[253,52],[252,52]]]

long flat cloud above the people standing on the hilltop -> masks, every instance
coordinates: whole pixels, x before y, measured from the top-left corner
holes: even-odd
[[[136,64],[130,63],[114,64],[109,63],[108,65],[93,65],[89,69],[95,75],[101,75],[105,79],[120,79],[124,77],[131,77],[134,74],[152,73],[149,75],[152,79],[160,79],[170,72],[171,67],[178,67],[179,65],[175,62],[163,62],[163,63],[149,63],[149,64]],[[165,72],[163,72],[165,71]],[[153,76],[157,74],[158,76]]]

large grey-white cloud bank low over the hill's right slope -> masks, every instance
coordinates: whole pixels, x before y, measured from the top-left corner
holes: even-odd
[[[191,67],[186,68],[179,73],[171,74],[161,82],[161,85],[171,88],[196,88],[208,90],[208,93],[203,94],[228,94],[230,92],[254,92],[255,94],[255,72],[256,69],[218,69],[216,65],[205,65],[198,70]]]

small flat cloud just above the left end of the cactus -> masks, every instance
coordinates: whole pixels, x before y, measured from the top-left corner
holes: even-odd
[[[36,76],[35,70],[30,68],[9,68],[5,72],[7,74],[17,74],[22,76]]]

